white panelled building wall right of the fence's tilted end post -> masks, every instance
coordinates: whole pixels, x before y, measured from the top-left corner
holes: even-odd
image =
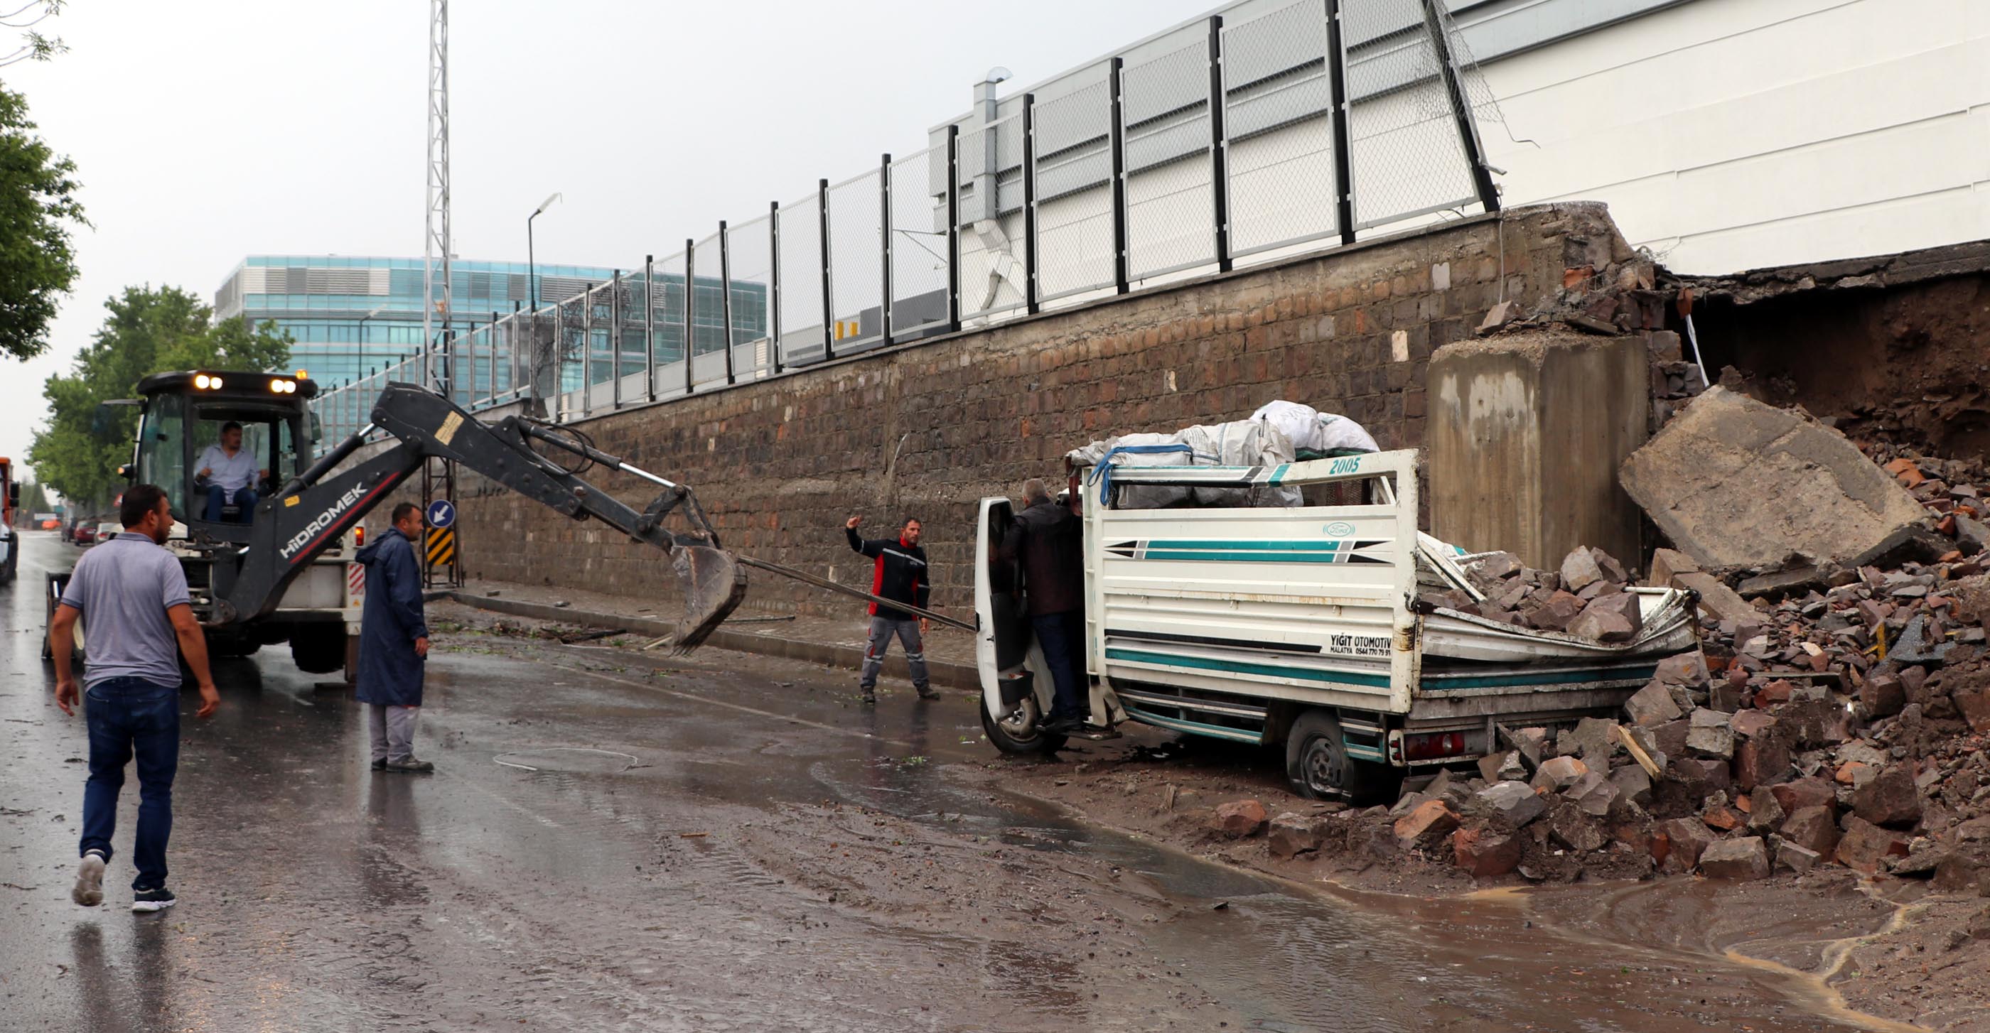
[[[1676,271],[1990,239],[1986,0],[1695,0],[1481,68],[1504,203],[1606,201]]]

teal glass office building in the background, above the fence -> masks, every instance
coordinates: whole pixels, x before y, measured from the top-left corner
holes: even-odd
[[[450,267],[456,279],[450,326],[458,334],[488,324],[494,312],[531,307],[533,269],[525,263],[458,259]],[[539,305],[579,295],[615,273],[539,265]],[[251,255],[215,291],[215,318],[247,316],[291,330],[297,338],[291,368],[330,388],[420,352],[424,297],[422,259]]]

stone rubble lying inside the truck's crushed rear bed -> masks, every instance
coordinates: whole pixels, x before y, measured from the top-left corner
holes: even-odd
[[[1463,589],[1425,591],[1419,603],[1598,643],[1628,643],[1642,629],[1638,595],[1624,591],[1632,579],[1602,549],[1574,549],[1558,571],[1526,567],[1512,553],[1489,553],[1463,569],[1477,597]]]

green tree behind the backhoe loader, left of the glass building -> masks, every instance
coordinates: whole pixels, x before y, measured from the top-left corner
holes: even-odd
[[[109,314],[66,376],[50,376],[48,430],[34,436],[36,478],[78,506],[109,502],[131,462],[137,408],[103,406],[131,398],[137,382],[163,370],[271,370],[291,362],[291,334],[275,322],[249,328],[241,316],[209,324],[201,299],[177,287],[127,287],[103,303]]]

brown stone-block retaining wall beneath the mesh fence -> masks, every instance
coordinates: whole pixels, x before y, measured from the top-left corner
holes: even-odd
[[[1562,287],[1572,247],[1612,239],[1600,205],[1514,209],[1083,309],[583,420],[595,444],[689,484],[726,547],[864,587],[872,537],[925,523],[933,601],[971,607],[977,500],[1061,478],[1094,438],[1250,416],[1274,398],[1347,414],[1383,448],[1423,446],[1425,366],[1504,297]],[[1572,245],[1570,241],[1576,241]],[[1504,261],[1504,269],[1502,269]],[[641,508],[629,476],[583,474]],[[466,476],[472,577],[677,599],[661,553]],[[854,603],[756,575],[748,605],[852,615]]]

